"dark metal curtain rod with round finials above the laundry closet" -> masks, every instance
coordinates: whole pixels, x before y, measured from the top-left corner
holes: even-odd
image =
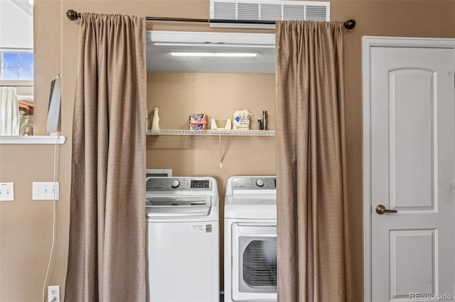
[[[73,9],[66,11],[66,16],[71,21],[75,21],[80,18],[80,13]],[[275,24],[275,21],[257,21],[257,20],[220,20],[220,19],[194,19],[194,18],[164,18],[164,17],[146,17],[147,21],[177,21],[177,22],[200,22],[200,23],[247,23],[247,24]],[[355,28],[355,20],[349,19],[345,21],[344,28],[353,29]]]

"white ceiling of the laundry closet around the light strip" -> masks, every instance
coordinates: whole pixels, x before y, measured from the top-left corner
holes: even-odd
[[[274,73],[273,33],[147,31],[148,72]],[[257,52],[256,57],[173,57],[171,51]]]

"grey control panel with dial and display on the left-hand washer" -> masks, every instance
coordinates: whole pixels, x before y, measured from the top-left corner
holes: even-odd
[[[149,177],[146,181],[146,191],[210,191],[211,189],[212,180],[203,177]]]

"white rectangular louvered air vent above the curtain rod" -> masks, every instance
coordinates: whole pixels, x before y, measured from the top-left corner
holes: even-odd
[[[274,24],[255,22],[277,20],[330,21],[330,2],[210,0],[211,27],[274,28]]]

